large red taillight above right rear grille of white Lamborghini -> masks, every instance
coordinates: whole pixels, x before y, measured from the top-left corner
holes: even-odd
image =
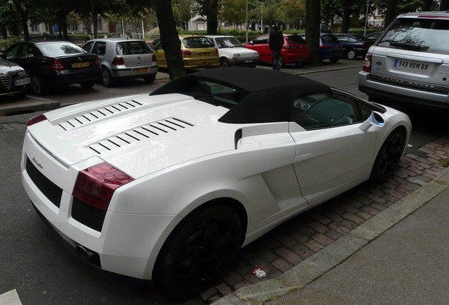
[[[73,197],[96,208],[107,210],[114,191],[133,180],[133,177],[121,172],[120,169],[102,162],[78,173]]]

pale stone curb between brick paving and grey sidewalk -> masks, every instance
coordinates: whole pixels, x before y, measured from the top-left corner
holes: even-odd
[[[237,289],[222,299],[217,305],[255,305],[263,301],[281,297],[297,289],[302,289],[328,270],[347,260],[355,252],[376,239],[380,234],[393,227],[407,215],[431,201],[439,193],[449,188],[449,169],[425,186],[397,201],[390,208],[367,220],[344,237],[337,239],[325,249],[317,252],[305,261],[294,266],[273,280],[265,280],[254,285]]]

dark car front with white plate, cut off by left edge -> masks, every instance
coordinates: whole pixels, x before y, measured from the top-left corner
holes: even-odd
[[[0,95],[25,95],[29,83],[30,77],[21,66],[0,58]]]

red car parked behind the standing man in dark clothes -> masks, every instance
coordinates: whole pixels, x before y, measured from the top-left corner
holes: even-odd
[[[260,35],[245,44],[245,47],[259,52],[262,62],[273,63],[273,55],[268,44],[269,37],[269,34]],[[281,66],[285,66],[285,64],[301,66],[309,61],[309,58],[309,44],[306,43],[306,40],[297,35],[284,34],[284,45],[281,49],[280,58]]]

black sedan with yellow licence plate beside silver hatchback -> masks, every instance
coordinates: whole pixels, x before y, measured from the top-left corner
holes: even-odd
[[[52,86],[79,83],[90,89],[100,79],[100,59],[65,41],[17,42],[2,58],[13,61],[31,78],[32,90],[46,94]]]

